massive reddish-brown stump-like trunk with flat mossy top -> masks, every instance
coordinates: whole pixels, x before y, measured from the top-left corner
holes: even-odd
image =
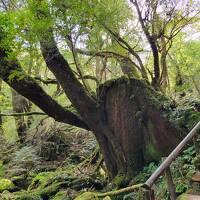
[[[110,81],[99,88],[98,95],[107,126],[124,155],[123,169],[112,156],[107,140],[104,157],[112,159],[112,177],[120,172],[125,172],[127,178],[133,177],[145,163],[166,156],[180,141],[182,130],[169,121],[170,101],[143,81]]]

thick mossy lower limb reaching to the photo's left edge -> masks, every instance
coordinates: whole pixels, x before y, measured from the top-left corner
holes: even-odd
[[[1,38],[0,38],[1,42]],[[52,99],[37,82],[28,76],[17,60],[8,60],[9,49],[0,49],[0,77],[18,93],[35,103],[47,115],[55,120],[89,129],[86,123],[77,115],[63,108]],[[12,77],[12,78],[11,78]]]

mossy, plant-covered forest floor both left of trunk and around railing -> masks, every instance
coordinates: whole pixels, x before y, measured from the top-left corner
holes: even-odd
[[[26,135],[23,144],[9,144],[1,138],[0,200],[71,200],[84,192],[114,189],[91,132],[44,118]],[[177,194],[190,188],[199,161],[195,145],[190,144],[172,164]],[[144,166],[130,185],[145,182],[158,165],[152,162]],[[168,199],[164,177],[158,180],[155,190],[157,200]],[[142,200],[138,192],[114,199]]]

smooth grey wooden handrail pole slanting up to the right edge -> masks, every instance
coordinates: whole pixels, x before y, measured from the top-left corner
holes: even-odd
[[[171,163],[176,159],[179,153],[183,150],[186,144],[194,137],[196,132],[200,130],[200,121],[196,126],[188,133],[188,135],[179,143],[179,145],[169,154],[169,156],[163,161],[163,163],[156,169],[156,171],[149,177],[144,183],[144,186],[151,189],[155,181],[169,168]]]

